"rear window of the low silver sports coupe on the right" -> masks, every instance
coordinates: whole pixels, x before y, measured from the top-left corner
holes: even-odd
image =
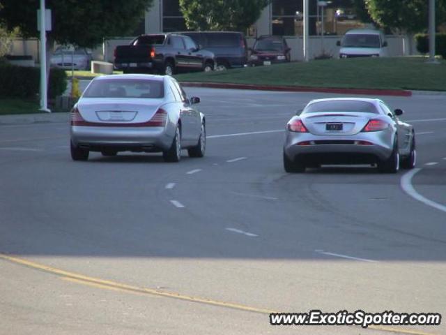
[[[366,101],[321,101],[305,107],[302,114],[322,112],[360,112],[379,114],[373,103]]]

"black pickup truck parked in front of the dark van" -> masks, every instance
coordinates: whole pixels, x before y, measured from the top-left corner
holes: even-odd
[[[130,45],[114,50],[114,67],[123,73],[162,73],[210,71],[214,54],[202,50],[189,36],[179,34],[141,35]]]

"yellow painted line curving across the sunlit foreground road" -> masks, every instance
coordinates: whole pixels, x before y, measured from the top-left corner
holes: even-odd
[[[132,293],[143,294],[143,295],[154,295],[157,297],[168,297],[168,298],[172,298],[172,299],[179,299],[179,300],[190,301],[190,302],[198,302],[201,304],[233,308],[233,309],[238,309],[240,311],[248,311],[248,312],[254,312],[254,313],[261,313],[261,314],[278,313],[277,311],[270,311],[268,309],[256,308],[256,307],[252,307],[252,306],[246,306],[243,304],[236,304],[236,303],[231,303],[231,302],[226,302],[226,301],[218,301],[218,300],[213,300],[213,299],[193,297],[190,295],[181,295],[180,293],[176,293],[176,292],[154,290],[152,288],[139,288],[138,286],[117,283],[115,281],[106,281],[106,280],[100,279],[100,278],[84,276],[82,274],[76,274],[74,272],[57,269],[55,267],[49,267],[47,265],[39,264],[37,262],[32,262],[31,260],[24,260],[23,258],[17,258],[17,257],[11,256],[11,255],[5,255],[3,253],[0,253],[0,258],[3,258],[4,260],[9,260],[10,262],[14,262],[14,263],[17,263],[20,265],[25,265],[26,267],[31,267],[33,269],[39,269],[39,270],[48,272],[50,274],[58,274],[58,275],[62,276],[61,278],[63,280],[71,281],[74,283],[79,283],[82,285],[89,285],[89,286],[92,286],[95,288],[101,288],[101,289],[106,289],[106,290],[115,290],[115,291],[121,291],[121,292],[132,292]],[[381,326],[369,326],[367,329],[378,330],[381,332],[392,332],[392,333],[397,333],[397,334],[408,334],[408,335],[435,335],[433,333],[419,332],[417,330],[406,330],[406,329],[381,327]]]

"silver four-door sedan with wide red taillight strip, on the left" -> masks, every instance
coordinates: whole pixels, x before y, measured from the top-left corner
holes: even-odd
[[[195,107],[199,102],[167,75],[96,77],[70,113],[71,157],[162,152],[165,161],[178,162],[182,149],[203,157],[206,119]]]

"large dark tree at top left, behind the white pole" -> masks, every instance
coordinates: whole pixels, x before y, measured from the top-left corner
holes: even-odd
[[[48,45],[95,47],[106,36],[125,36],[137,27],[153,0],[46,0],[52,10]],[[0,0],[0,20],[8,30],[19,27],[22,36],[38,37],[39,0]]]

